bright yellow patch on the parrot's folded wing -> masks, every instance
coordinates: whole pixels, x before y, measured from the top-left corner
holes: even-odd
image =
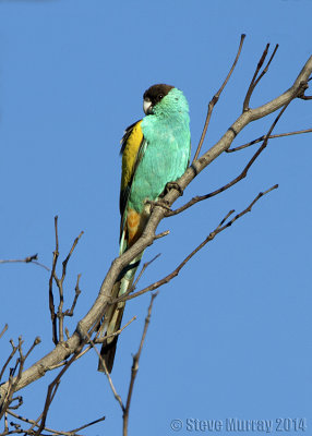
[[[132,178],[136,155],[143,140],[141,123],[142,121],[139,121],[134,125],[122,154],[121,191],[127,187]]]

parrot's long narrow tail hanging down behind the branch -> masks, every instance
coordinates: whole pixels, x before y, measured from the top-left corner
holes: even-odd
[[[115,283],[113,290],[112,290],[113,299],[123,295],[128,291],[128,289],[130,289],[132,287],[135,271],[139,267],[142,256],[143,256],[143,253],[141,253],[137,257],[135,257],[135,259],[133,259],[131,262],[131,264],[128,266],[127,271],[123,272],[123,277],[121,278],[121,280],[119,280]],[[108,336],[108,338],[101,346],[101,350],[100,350],[101,359],[99,359],[98,367],[97,367],[98,371],[101,371],[104,373],[106,371],[105,371],[105,366],[103,364],[103,360],[104,360],[107,371],[109,373],[111,372],[112,366],[113,366],[118,336],[109,338],[109,335],[111,335],[120,329],[124,305],[125,305],[125,302],[120,302],[115,305],[111,305],[109,307],[108,312],[105,314],[104,325],[101,326],[101,329],[103,329],[103,331],[106,332],[106,336]]]

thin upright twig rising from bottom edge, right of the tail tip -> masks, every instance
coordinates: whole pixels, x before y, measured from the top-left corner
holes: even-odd
[[[151,303],[149,303],[148,311],[147,311],[147,316],[145,318],[145,324],[144,324],[144,329],[143,329],[140,347],[139,347],[137,353],[134,354],[134,356],[133,356],[133,363],[132,363],[132,368],[131,368],[131,379],[130,379],[130,385],[129,385],[127,403],[125,403],[125,409],[123,410],[123,436],[128,435],[129,410],[130,410],[130,404],[131,404],[133,386],[134,386],[135,377],[136,377],[137,370],[139,370],[139,361],[140,361],[141,352],[143,349],[143,344],[144,344],[145,337],[147,334],[148,325],[151,322],[153,303],[157,295],[158,295],[158,292],[152,294]]]

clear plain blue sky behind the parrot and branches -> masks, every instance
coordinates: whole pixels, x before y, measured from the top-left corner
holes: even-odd
[[[239,64],[212,118],[207,149],[240,114],[266,43],[278,43],[279,49],[251,105],[292,84],[311,55],[311,0],[0,1],[0,258],[39,253],[50,266],[55,215],[61,257],[84,230],[65,281],[70,305],[82,274],[71,332],[118,253],[119,141],[142,117],[144,90],[165,82],[184,92],[194,153],[207,102],[245,33]],[[274,117],[248,126],[235,145],[266,133]],[[311,102],[295,101],[275,132],[311,124]],[[161,289],[140,362],[130,435],[187,435],[188,419],[231,417],[272,420],[274,431],[279,417],[305,419],[308,434],[311,141],[309,134],[272,141],[239,185],[161,222],[159,231],[169,229],[170,235],[146,251],[146,261],[161,256],[141,287],[170,272],[228,210],[241,210],[279,183]],[[228,182],[253,150],[218,158],[177,205]],[[41,337],[28,363],[51,350],[48,278],[35,265],[1,266],[0,319],[9,324],[1,361],[10,351],[8,339],[19,335],[25,347]],[[137,316],[122,334],[112,373],[124,401],[148,302],[149,295],[131,301],[124,313],[124,322]],[[121,411],[96,367],[91,352],[64,376],[47,425],[69,431],[106,415],[84,434],[121,433]],[[34,419],[41,412],[53,376],[24,389],[21,414]],[[182,421],[180,432],[170,429],[173,419]]]

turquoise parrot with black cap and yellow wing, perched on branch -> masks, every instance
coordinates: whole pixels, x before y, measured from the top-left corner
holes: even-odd
[[[151,215],[148,202],[157,202],[190,162],[189,105],[183,93],[175,86],[153,85],[143,95],[143,110],[145,117],[127,128],[120,142],[120,255],[141,237]],[[131,289],[143,253],[120,274],[112,298]],[[118,336],[111,335],[120,329],[124,305],[124,302],[110,305],[105,314],[98,371],[112,370]]]

